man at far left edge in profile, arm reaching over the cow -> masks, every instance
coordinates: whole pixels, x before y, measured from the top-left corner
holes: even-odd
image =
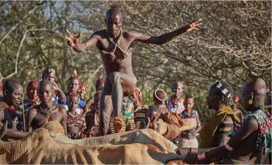
[[[3,98],[0,99],[0,127],[8,121],[8,129],[3,141],[8,138],[18,139],[25,137],[28,133],[17,131],[17,116],[13,106],[18,106],[22,97],[22,86],[15,80],[9,79],[3,85]]]

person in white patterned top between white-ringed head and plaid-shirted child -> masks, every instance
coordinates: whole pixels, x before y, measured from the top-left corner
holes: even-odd
[[[170,100],[166,100],[166,106],[172,113],[180,115],[184,110],[184,99],[181,97],[183,94],[183,84],[175,82],[172,84],[172,96]]]

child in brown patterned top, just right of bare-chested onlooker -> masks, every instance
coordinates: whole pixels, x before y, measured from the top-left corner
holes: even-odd
[[[69,92],[67,94],[67,133],[71,135],[72,139],[80,139],[80,133],[86,129],[84,116],[76,112],[78,107],[78,97],[77,92]]]

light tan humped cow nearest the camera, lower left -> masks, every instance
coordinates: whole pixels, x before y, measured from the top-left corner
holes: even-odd
[[[141,143],[89,147],[63,143],[52,138],[45,128],[21,140],[0,142],[0,153],[0,164],[166,164],[185,158]]]

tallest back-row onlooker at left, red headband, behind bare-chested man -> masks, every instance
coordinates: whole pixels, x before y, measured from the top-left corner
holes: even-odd
[[[55,69],[51,68],[51,67],[47,67],[46,69],[44,69],[44,71],[42,72],[42,79],[47,79],[49,81],[51,81],[53,83],[53,88],[55,91],[55,95],[52,98],[52,101],[54,102],[54,104],[58,104],[58,99],[60,100],[66,100],[66,96],[65,94],[60,90],[60,88],[58,87],[58,85],[55,82],[55,76],[56,76],[56,71]]]

